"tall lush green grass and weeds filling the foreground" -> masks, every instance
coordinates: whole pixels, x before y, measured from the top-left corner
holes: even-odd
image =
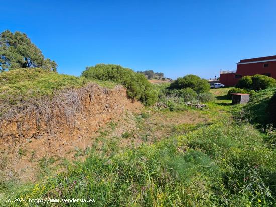
[[[67,172],[9,197],[95,199],[97,206],[272,206],[275,159],[252,126],[221,123],[112,156],[92,150]]]

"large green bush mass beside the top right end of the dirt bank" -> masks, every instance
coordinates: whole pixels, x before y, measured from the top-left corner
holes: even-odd
[[[82,76],[88,79],[120,83],[126,87],[130,98],[140,100],[147,105],[152,105],[157,100],[157,92],[143,74],[120,65],[97,64],[87,67],[82,72]]]

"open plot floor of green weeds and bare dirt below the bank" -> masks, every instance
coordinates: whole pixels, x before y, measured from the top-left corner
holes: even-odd
[[[273,206],[270,135],[233,120],[240,106],[225,99],[227,91],[212,89],[215,100],[202,109],[125,112],[99,128],[89,146],[69,152],[74,162],[39,160],[37,184],[1,180],[1,197],[91,198],[97,206]],[[17,205],[23,204],[10,206]]]

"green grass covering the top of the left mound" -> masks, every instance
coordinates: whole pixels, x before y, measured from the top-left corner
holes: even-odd
[[[81,88],[88,82],[107,88],[116,85],[110,81],[87,80],[83,77],[59,74],[40,68],[2,72],[0,73],[0,117],[9,107],[44,96],[51,98],[57,91]]]

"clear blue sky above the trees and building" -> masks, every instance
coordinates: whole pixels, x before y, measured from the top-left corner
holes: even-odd
[[[276,55],[276,1],[2,1],[0,31],[26,33],[58,72],[120,64],[211,78]]]

